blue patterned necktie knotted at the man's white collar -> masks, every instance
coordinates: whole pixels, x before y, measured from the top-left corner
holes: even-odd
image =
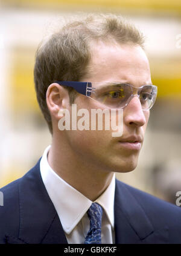
[[[101,243],[101,220],[103,208],[98,203],[92,203],[87,211],[90,220],[90,229],[84,243]]]

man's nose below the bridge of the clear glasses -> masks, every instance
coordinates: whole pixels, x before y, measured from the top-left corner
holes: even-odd
[[[124,122],[126,125],[132,126],[145,125],[146,119],[138,96],[133,97],[129,104],[124,108]]]

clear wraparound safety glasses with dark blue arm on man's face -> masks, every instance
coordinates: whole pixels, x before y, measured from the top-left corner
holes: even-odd
[[[112,82],[71,82],[57,81],[59,85],[72,87],[91,99],[103,103],[110,108],[124,108],[133,97],[138,96],[142,110],[150,110],[157,96],[156,85],[133,87],[130,84]]]

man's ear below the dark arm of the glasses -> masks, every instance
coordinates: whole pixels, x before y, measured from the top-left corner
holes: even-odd
[[[68,90],[56,83],[49,85],[46,91],[46,104],[51,117],[59,120],[59,113],[70,107]]]

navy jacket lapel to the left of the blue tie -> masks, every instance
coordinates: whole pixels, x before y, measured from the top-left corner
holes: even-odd
[[[40,160],[19,183],[20,228],[17,239],[20,243],[68,243],[42,182],[39,163]],[[13,243],[13,238],[8,239]]]

